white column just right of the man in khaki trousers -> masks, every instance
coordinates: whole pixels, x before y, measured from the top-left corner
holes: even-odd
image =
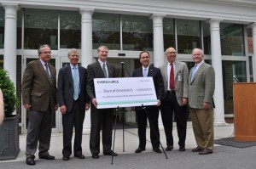
[[[211,25],[211,48],[212,48],[212,67],[215,70],[215,92],[213,95],[214,124],[224,125],[224,92],[223,92],[223,76],[222,76],[222,59],[219,34],[220,20],[209,20]]]

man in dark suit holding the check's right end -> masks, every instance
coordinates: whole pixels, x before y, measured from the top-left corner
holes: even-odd
[[[154,88],[157,97],[157,105],[146,106],[145,109],[148,112],[148,116],[145,110],[142,107],[136,107],[137,114],[137,127],[138,127],[138,137],[139,137],[139,146],[135,150],[135,153],[141,153],[146,149],[146,127],[147,127],[147,117],[150,119],[150,140],[153,147],[153,150],[156,153],[161,153],[160,147],[160,132],[158,127],[158,117],[159,117],[159,106],[160,99],[164,95],[164,82],[163,77],[161,76],[160,69],[155,68],[154,66],[149,65],[150,56],[147,51],[141,52],[139,55],[140,62],[142,67],[134,70],[132,73],[133,77],[139,76],[152,76],[154,81]]]

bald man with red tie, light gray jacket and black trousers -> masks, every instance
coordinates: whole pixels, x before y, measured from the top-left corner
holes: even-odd
[[[173,111],[177,121],[179,151],[185,151],[188,119],[189,70],[184,62],[177,61],[175,48],[171,47],[166,49],[166,59],[168,63],[160,67],[166,92],[166,96],[162,99],[162,104],[160,105],[162,121],[166,133],[166,151],[173,149]]]

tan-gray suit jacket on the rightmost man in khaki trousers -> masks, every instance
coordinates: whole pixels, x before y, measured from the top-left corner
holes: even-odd
[[[189,106],[195,109],[202,109],[203,103],[208,102],[211,103],[212,109],[215,89],[215,72],[212,65],[202,63],[191,81],[192,69],[189,73]]]

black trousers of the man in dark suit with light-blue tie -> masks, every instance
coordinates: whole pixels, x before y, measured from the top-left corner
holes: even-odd
[[[72,154],[72,136],[73,127],[75,128],[75,138],[73,143],[74,155],[82,155],[82,137],[83,137],[83,123],[84,112],[79,109],[79,99],[73,101],[73,108],[71,112],[62,115],[63,126],[63,149],[62,155],[69,156]],[[85,105],[84,105],[85,106]]]

